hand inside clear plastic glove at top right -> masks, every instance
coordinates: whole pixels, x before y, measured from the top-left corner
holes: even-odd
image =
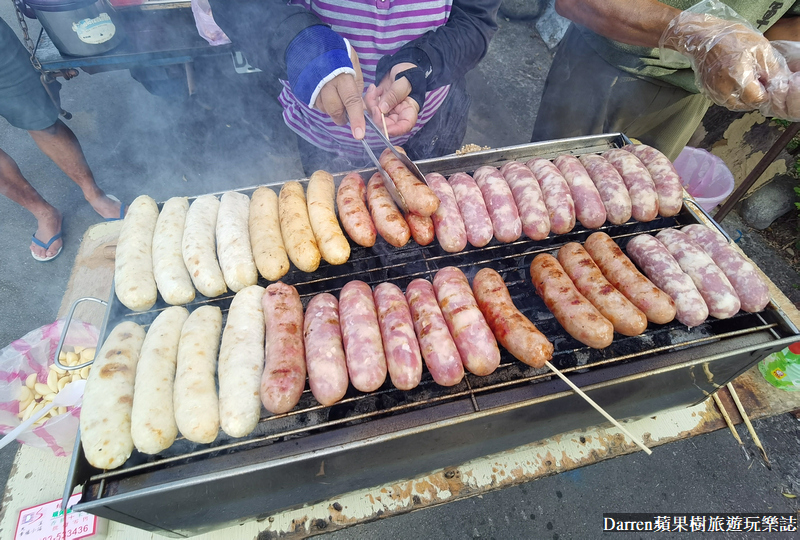
[[[664,31],[660,45],[688,56],[701,91],[734,111],[770,101],[770,84],[789,72],[770,42],[752,28],[706,14],[683,12]]]

